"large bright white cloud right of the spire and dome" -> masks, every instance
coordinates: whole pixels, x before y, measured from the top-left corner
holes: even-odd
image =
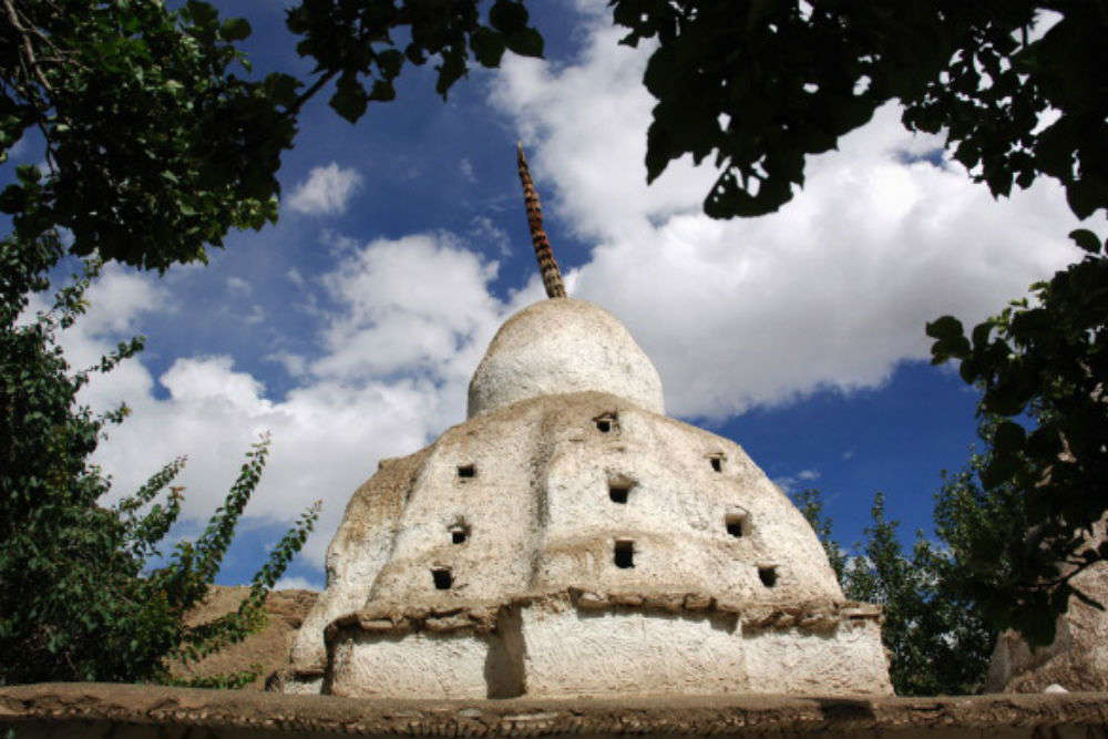
[[[956,163],[905,162],[942,141],[904,131],[891,105],[809,157],[804,189],[779,213],[707,218],[711,167],[686,157],[646,186],[649,49],[618,45],[602,3],[584,7],[579,61],[507,58],[491,101],[551,183],[548,211],[597,245],[574,296],[627,322],[671,412],[718,419],[881,384],[929,356],[927,320],[979,320],[1078,255],[1053,182],[994,202]]]

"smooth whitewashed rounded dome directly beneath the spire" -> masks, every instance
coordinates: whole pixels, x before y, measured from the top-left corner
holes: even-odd
[[[469,418],[588,390],[665,414],[658,370],[619,319],[585,300],[542,300],[496,332],[470,382]]]

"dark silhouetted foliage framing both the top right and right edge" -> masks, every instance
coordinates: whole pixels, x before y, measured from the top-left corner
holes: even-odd
[[[1070,209],[1108,208],[1108,32],[1101,0],[612,0],[623,43],[652,39],[644,83],[658,99],[647,132],[647,177],[691,153],[721,168],[705,201],[717,218],[756,216],[804,182],[804,157],[829,151],[889,101],[912,131],[943,133],[946,148],[994,196],[1057,179]],[[1033,40],[1044,11],[1054,23]],[[1028,528],[1006,542],[1009,578],[981,572],[994,625],[1049,640],[1076,568],[1108,555],[1081,532],[1108,507],[1104,445],[1105,295],[1098,237],[1073,234],[1080,265],[1036,286],[973,332],[929,325],[936,362],[962,360],[982,384],[983,418],[1012,419],[986,440],[995,454],[982,484],[1027,496]],[[1020,413],[1028,411],[1024,421]],[[982,538],[982,546],[985,547]],[[999,544],[993,542],[992,544]],[[973,562],[987,563],[982,548]],[[982,597],[986,597],[982,594]],[[1081,597],[1078,595],[1078,597]]]

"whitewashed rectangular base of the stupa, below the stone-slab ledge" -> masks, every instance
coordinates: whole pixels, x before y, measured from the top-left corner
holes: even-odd
[[[784,624],[767,610],[772,625],[759,626],[717,608],[597,607],[583,597],[519,603],[494,626],[466,627],[452,615],[382,633],[381,622],[350,620],[328,636],[324,691],[397,699],[891,692],[872,606],[855,616],[856,608],[801,612]]]

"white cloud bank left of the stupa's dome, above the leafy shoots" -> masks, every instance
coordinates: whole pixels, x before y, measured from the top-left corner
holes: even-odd
[[[288,522],[322,500],[320,523],[305,548],[308,561],[321,566],[353,490],[378,460],[410,454],[464,419],[465,387],[492,333],[510,312],[540,297],[532,280],[509,301],[497,300],[489,291],[495,275],[495,263],[448,233],[352,248],[320,280],[332,311],[317,337],[318,357],[268,357],[296,381],[281,400],[226,355],[177,358],[156,378],[131,361],[96,379],[86,402],[103,409],[125,399],[133,409],[95,455],[114,474],[113,496],[187,454],[179,479],[186,487],[183,515],[204,521],[226,495],[243,454],[269,431],[271,455],[247,516]],[[122,270],[105,277],[114,287],[126,286],[114,304],[116,329],[133,327],[146,307],[166,302],[150,292],[161,289],[150,278]],[[104,297],[100,285],[93,289]],[[99,357],[112,346],[116,337],[104,330],[106,316],[91,318],[66,332],[68,350]]]

